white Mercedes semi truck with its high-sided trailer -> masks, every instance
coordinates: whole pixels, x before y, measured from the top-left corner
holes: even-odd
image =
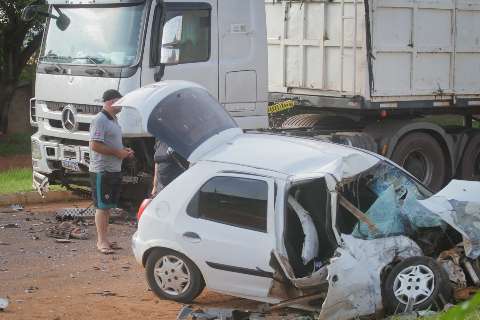
[[[369,149],[432,189],[480,177],[472,128],[480,114],[478,1],[48,4],[31,100],[34,185],[42,192],[88,185],[88,131],[105,90],[126,94],[162,80],[201,84],[244,129]],[[438,114],[464,124],[423,120]],[[151,186],[154,141],[132,128],[122,128],[136,154],[123,165],[123,194],[135,200]]]

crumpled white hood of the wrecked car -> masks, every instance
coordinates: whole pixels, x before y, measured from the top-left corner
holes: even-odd
[[[480,182],[452,180],[419,203],[462,234],[469,258],[480,256]]]

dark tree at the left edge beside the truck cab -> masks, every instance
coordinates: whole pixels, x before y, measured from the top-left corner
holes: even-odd
[[[42,42],[43,21],[21,19],[22,9],[32,0],[0,0],[0,132],[8,127],[10,102],[20,74]]]

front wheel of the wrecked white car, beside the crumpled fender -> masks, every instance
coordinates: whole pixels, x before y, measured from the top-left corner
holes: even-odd
[[[388,314],[412,310],[441,310],[452,299],[452,287],[445,270],[430,257],[407,258],[388,273],[383,284],[383,303]]]

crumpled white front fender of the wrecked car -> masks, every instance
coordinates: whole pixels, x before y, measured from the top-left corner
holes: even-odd
[[[344,245],[328,265],[329,288],[321,319],[374,314],[382,305],[382,270],[395,259],[423,255],[418,245],[404,236],[363,240],[344,234],[342,239]]]

